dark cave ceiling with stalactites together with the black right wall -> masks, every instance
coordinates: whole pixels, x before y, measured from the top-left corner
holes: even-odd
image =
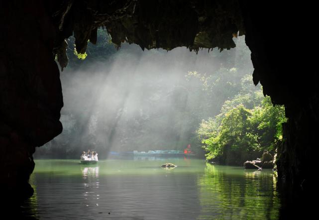
[[[254,66],[253,83],[263,86],[264,96],[269,95],[274,105],[285,105],[289,118],[278,148],[279,176],[300,184],[311,176],[305,164],[319,168],[318,159],[313,158],[319,155],[318,149],[303,147],[305,143],[318,145],[312,140],[316,135],[309,126],[319,118],[315,89],[319,79],[314,70],[305,67],[312,58],[306,60],[303,49],[295,49],[290,33],[298,28],[307,40],[309,29],[301,21],[314,21],[310,7],[249,0],[69,0],[47,8],[56,27],[53,52],[61,68],[67,65],[64,39],[73,34],[76,50],[84,53],[88,41],[97,42],[99,27],[106,28],[118,48],[128,42],[143,50],[185,46],[195,52],[215,47],[221,51],[235,47],[233,37],[245,35]],[[302,11],[309,14],[302,15]],[[299,40],[305,41],[303,37]],[[309,71],[307,76],[297,77],[305,71]],[[318,177],[315,180],[319,182]]]

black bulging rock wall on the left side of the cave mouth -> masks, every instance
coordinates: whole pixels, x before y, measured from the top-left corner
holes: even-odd
[[[11,197],[32,195],[32,154],[62,131],[54,26],[42,0],[0,3],[0,186]]]

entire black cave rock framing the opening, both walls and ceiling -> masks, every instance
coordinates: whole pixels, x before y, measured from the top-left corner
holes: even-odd
[[[273,104],[284,104],[289,118],[278,151],[279,178],[301,196],[318,194],[319,75],[310,50],[317,49],[310,38],[315,8],[246,0],[1,1],[0,144],[5,155],[15,155],[5,159],[2,189],[25,186],[35,146],[61,132],[54,57],[67,65],[65,38],[74,33],[76,49],[84,53],[103,26],[118,47],[127,41],[142,49],[229,49],[238,31],[245,34],[254,83]]]

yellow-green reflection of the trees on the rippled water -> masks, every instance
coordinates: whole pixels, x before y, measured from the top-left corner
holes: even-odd
[[[226,170],[207,163],[198,185],[202,207],[198,219],[278,219],[280,205],[272,171]]]

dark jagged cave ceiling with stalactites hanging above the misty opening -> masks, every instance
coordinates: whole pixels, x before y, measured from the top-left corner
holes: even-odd
[[[75,37],[76,50],[85,53],[88,41],[97,43],[97,29],[106,28],[116,47],[134,43],[143,50],[185,46],[220,50],[235,47],[232,38],[245,34],[237,0],[67,0],[47,5],[57,32],[54,53],[66,67],[65,38]]]

